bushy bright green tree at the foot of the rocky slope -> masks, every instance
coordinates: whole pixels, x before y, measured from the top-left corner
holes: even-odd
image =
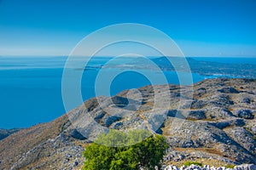
[[[114,144],[119,147],[113,147]],[[155,166],[160,167],[167,147],[166,139],[160,134],[150,135],[145,130],[134,130],[127,134],[111,130],[85,148],[83,169],[154,169]]]

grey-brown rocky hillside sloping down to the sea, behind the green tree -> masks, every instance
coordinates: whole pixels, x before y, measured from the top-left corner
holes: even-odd
[[[209,79],[193,89],[147,86],[89,99],[0,140],[0,169],[79,169],[86,144],[110,128],[163,134],[170,144],[165,165],[256,164],[256,80]]]

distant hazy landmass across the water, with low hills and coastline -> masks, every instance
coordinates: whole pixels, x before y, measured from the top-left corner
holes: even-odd
[[[230,58],[232,59],[232,58]],[[151,59],[162,71],[191,71],[202,76],[219,76],[219,77],[240,77],[256,78],[255,64],[245,63],[221,63],[216,61],[206,61],[196,58],[181,57],[159,57]],[[170,62],[171,61],[171,62]],[[185,67],[187,62],[189,67]],[[108,67],[119,67],[122,69],[154,69],[152,64],[145,59],[134,59],[134,61],[123,64],[108,65]]]

